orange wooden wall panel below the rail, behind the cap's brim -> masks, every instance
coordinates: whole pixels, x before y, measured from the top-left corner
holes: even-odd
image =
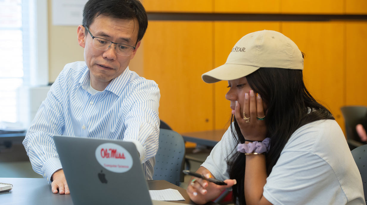
[[[229,52],[238,40],[244,35],[258,30],[280,31],[280,22],[227,22],[214,23],[214,67],[221,66],[227,60]],[[214,83],[214,108],[215,129],[223,129],[229,126],[231,116],[230,103],[225,99],[228,92],[228,82]]]

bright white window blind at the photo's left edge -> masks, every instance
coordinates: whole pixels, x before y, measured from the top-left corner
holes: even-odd
[[[16,91],[29,83],[29,1],[0,0],[0,121],[17,120]]]

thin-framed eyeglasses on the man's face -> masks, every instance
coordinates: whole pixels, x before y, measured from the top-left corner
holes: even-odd
[[[92,35],[91,31],[88,29],[87,26],[84,26],[84,27],[87,29],[89,34],[91,34],[93,47],[97,48],[98,50],[106,51],[107,49],[110,48],[110,46],[112,44],[116,44],[115,48],[116,48],[116,53],[117,54],[119,54],[121,56],[130,56],[132,51],[134,51],[134,49],[135,49],[135,47],[131,46],[131,45],[118,44],[118,43],[109,41],[109,40],[104,39],[104,38],[95,37],[95,36]]]

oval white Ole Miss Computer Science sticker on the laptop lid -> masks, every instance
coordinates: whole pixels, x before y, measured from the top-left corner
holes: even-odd
[[[132,167],[132,157],[127,150],[115,143],[103,143],[95,150],[95,158],[109,171],[122,173]]]

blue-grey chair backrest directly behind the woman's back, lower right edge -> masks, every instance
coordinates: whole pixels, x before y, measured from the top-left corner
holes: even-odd
[[[353,159],[361,174],[364,198],[367,199],[367,145],[362,145],[352,150]]]

